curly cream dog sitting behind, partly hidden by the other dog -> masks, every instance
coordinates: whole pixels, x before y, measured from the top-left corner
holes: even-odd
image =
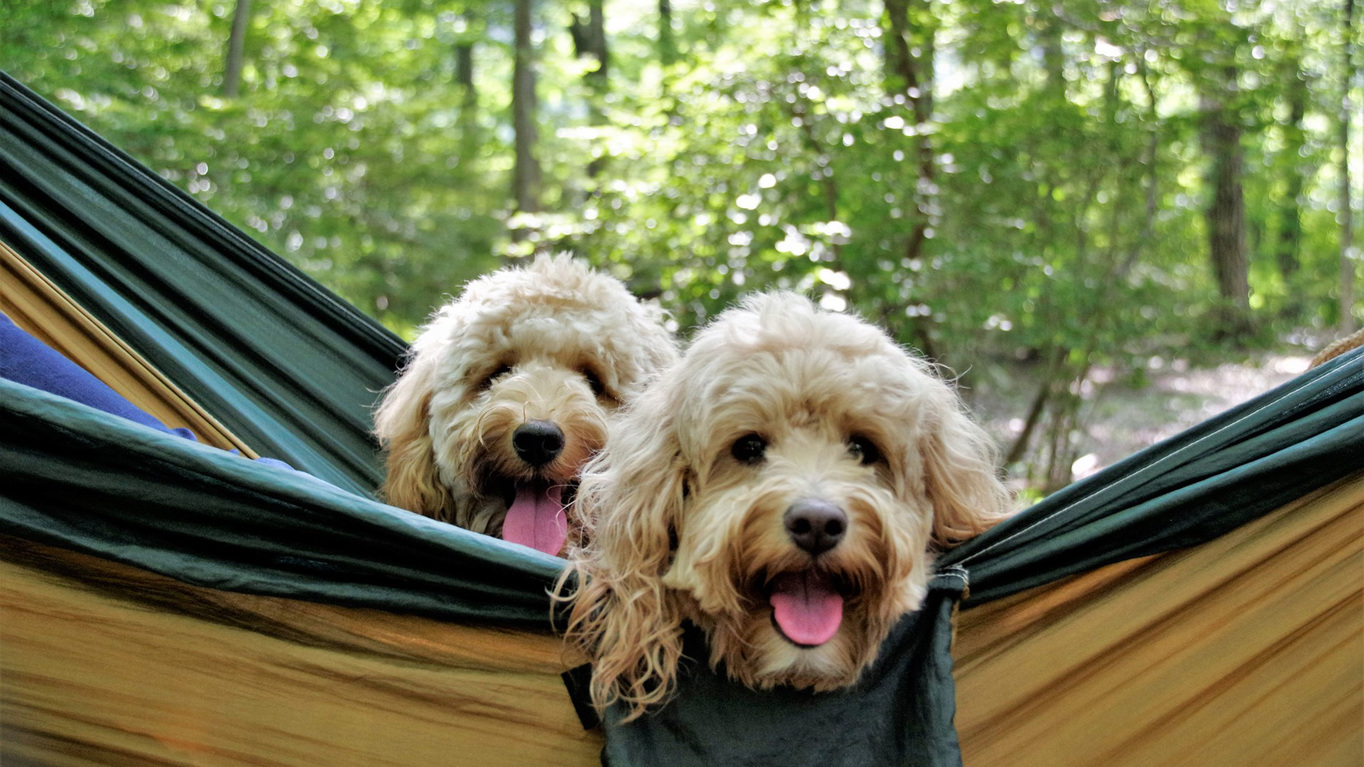
[[[396,505],[548,554],[607,416],[677,344],[662,311],[567,255],[469,283],[375,411]]]

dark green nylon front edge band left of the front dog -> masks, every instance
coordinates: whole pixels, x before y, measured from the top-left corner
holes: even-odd
[[[542,632],[563,565],[4,379],[0,532],[196,585]]]

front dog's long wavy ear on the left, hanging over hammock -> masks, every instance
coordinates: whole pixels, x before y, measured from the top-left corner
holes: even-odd
[[[567,636],[595,661],[593,706],[621,700],[626,721],[667,699],[682,655],[681,616],[662,576],[687,469],[663,389],[645,390],[585,467],[576,504],[587,543],[569,554],[578,588]]]

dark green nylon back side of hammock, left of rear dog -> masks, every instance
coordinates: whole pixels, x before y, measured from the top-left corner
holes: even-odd
[[[378,486],[402,341],[4,74],[0,240],[261,454]]]

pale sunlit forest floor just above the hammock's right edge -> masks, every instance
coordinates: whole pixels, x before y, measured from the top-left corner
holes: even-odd
[[[1082,479],[1138,450],[1173,437],[1214,415],[1285,384],[1308,368],[1303,351],[1255,352],[1240,362],[1194,363],[1173,360],[1146,371],[1142,386],[1093,375],[1082,409],[1072,479]],[[967,393],[971,409],[1007,450],[1023,429],[1030,399],[1037,392],[1035,371],[1018,366],[1008,384],[982,385]],[[1034,435],[1034,444],[1037,435]],[[1022,486],[1020,479],[1012,484]]]

